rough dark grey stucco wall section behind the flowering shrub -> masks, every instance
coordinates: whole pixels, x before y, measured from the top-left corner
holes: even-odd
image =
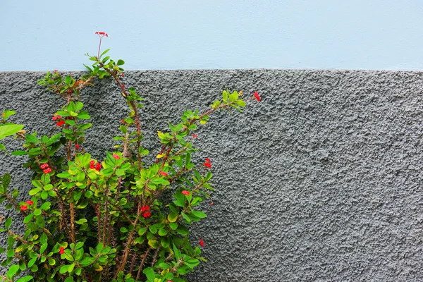
[[[36,86],[41,76],[0,73],[0,108],[47,134],[60,103]],[[226,87],[262,96],[197,133],[197,161],[212,159],[216,192],[192,226],[208,262],[190,281],[423,281],[423,73],[133,71],[125,80],[145,97],[153,151],[165,122],[206,109]],[[85,147],[101,158],[125,103],[107,82],[82,100],[94,124]],[[24,159],[3,156],[0,171],[25,193]]]

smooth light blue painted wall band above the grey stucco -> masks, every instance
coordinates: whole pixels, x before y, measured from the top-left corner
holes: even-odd
[[[0,13],[0,71],[82,70],[96,31],[127,69],[423,70],[422,0],[1,0]]]

